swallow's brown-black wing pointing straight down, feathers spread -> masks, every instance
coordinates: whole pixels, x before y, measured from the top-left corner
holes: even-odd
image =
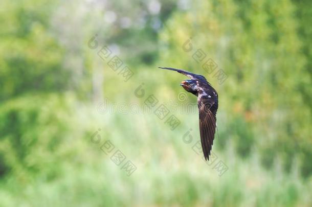
[[[199,110],[200,141],[202,141],[205,159],[209,160],[216,128],[216,117],[214,112],[211,111],[213,109],[212,106],[215,107],[215,101],[209,98],[208,95],[203,95],[203,93],[199,91],[197,104]]]

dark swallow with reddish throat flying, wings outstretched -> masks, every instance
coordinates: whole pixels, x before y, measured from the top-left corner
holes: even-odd
[[[217,120],[216,119],[216,113],[218,110],[217,91],[202,75],[193,74],[184,70],[171,67],[159,67],[159,68],[176,71],[191,78],[190,80],[182,81],[180,85],[189,93],[197,96],[197,105],[199,110],[200,141],[202,142],[202,148],[205,159],[209,160]]]

